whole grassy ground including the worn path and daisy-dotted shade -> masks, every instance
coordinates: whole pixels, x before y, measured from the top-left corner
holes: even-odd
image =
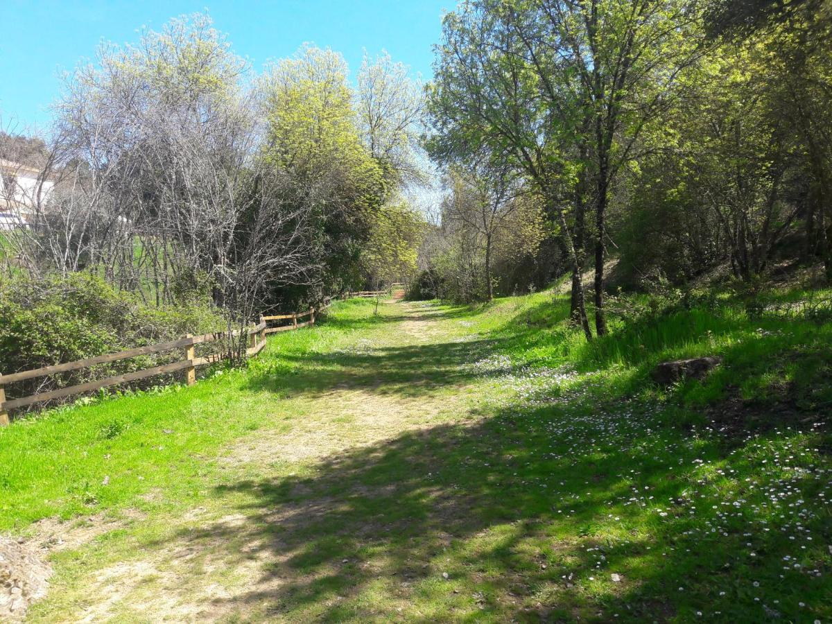
[[[567,305],[343,302],[244,371],[13,424],[0,526],[92,535],[32,620],[832,618],[832,325],[726,300],[587,345]]]

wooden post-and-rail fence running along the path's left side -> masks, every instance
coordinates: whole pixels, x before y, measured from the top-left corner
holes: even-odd
[[[329,303],[319,308],[320,313],[329,308]],[[309,316],[310,319],[302,323],[298,319]],[[278,319],[292,319],[292,324],[281,327],[269,327],[270,320]],[[307,325],[314,325],[315,309],[310,308],[307,312],[295,314],[279,314],[276,316],[261,316],[260,324],[245,329],[248,335],[248,348],[245,349],[245,354],[249,357],[260,353],[265,347],[266,334],[272,334],[278,331],[287,331],[290,329],[299,329]],[[232,336],[239,336],[239,331],[231,333]],[[210,343],[218,340],[227,339],[227,332],[217,332],[214,334],[202,334],[199,336],[187,335],[185,338],[178,340],[171,340],[170,342],[163,342],[160,344],[150,344],[146,347],[137,347],[136,349],[127,349],[126,351],[119,351],[118,353],[97,355],[94,358],[79,359],[75,362],[67,362],[67,364],[54,364],[52,366],[44,366],[42,369],[24,370],[20,373],[12,373],[3,375],[0,374],[0,427],[9,423],[8,413],[12,409],[26,407],[35,403],[42,403],[52,399],[62,399],[74,394],[82,394],[91,392],[92,390],[106,388],[117,384],[126,384],[127,382],[137,381],[138,379],[146,379],[154,375],[174,373],[176,371],[185,371],[186,384],[192,385],[196,383],[196,369],[206,364],[214,364],[227,357],[226,354],[214,354],[205,358],[197,358],[195,356],[196,344]],[[60,388],[51,390],[49,392],[42,392],[40,394],[32,394],[31,396],[22,397],[21,399],[6,400],[6,392],[4,386],[6,384],[13,384],[18,381],[25,381],[26,379],[35,379],[37,377],[46,377],[48,375],[57,373],[66,373],[71,370],[86,369],[96,364],[108,364],[117,362],[121,359],[135,358],[139,355],[164,353],[174,349],[182,349],[185,359],[171,364],[161,364],[150,369],[136,370],[131,373],[115,375],[114,377],[107,377],[106,379],[99,379],[97,381],[90,381],[86,384],[77,384],[67,388]]]

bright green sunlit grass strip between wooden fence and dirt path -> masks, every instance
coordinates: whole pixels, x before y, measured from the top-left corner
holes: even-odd
[[[368,302],[342,304],[341,324],[314,334],[280,334],[280,348],[293,356],[310,344],[328,349],[367,324],[368,307]],[[247,371],[217,369],[191,388],[171,386],[57,409],[0,429],[0,530],[54,515],[124,508],[154,488],[177,500],[198,498],[206,470],[193,459],[210,462],[223,444],[263,426],[280,401],[280,395],[252,391],[250,378]],[[121,476],[102,485],[110,475]]]

